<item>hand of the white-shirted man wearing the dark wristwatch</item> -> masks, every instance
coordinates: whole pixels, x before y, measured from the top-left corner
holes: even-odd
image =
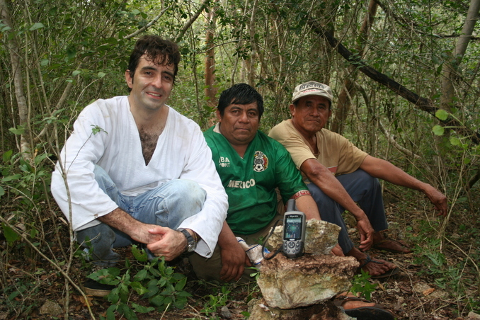
[[[164,256],[166,261],[172,261],[180,256],[188,244],[181,232],[170,228],[155,226],[149,229],[149,234],[159,240],[150,242],[147,244],[147,248],[157,257]]]

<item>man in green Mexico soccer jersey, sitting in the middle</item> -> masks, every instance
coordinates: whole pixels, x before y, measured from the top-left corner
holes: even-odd
[[[204,133],[227,191],[229,210],[212,258],[190,256],[199,278],[249,280],[251,270],[245,267],[251,266],[251,261],[236,236],[247,244],[255,244],[268,234],[278,217],[275,188],[280,190],[284,203],[295,199],[297,209],[307,219],[320,219],[316,203],[290,154],[258,130],[262,113],[262,96],[247,84],[236,84],[222,92],[218,123]],[[342,255],[339,247],[336,253]]]

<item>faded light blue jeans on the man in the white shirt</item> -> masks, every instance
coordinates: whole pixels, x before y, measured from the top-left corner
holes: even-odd
[[[103,168],[95,166],[93,173],[100,188],[120,209],[140,222],[173,230],[176,230],[184,219],[202,210],[207,195],[195,181],[176,179],[135,197],[127,196],[120,193]],[[92,246],[91,261],[104,267],[115,265],[120,258],[112,248],[135,242],[127,234],[103,222],[76,232],[76,241],[86,248]]]

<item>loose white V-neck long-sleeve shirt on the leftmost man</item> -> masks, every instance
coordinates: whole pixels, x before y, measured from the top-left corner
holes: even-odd
[[[71,219],[60,164],[67,173]],[[193,120],[169,108],[164,131],[152,159],[145,165],[127,96],[98,100],[84,108],[62,149],[51,186],[55,200],[75,231],[99,224],[96,218],[118,207],[95,181],[96,164],[108,173],[123,195],[139,195],[178,178],[197,182],[207,192],[207,198],[202,210],[185,219],[180,227],[192,229],[201,237],[197,253],[211,256],[227,215],[228,201],[210,148]]]

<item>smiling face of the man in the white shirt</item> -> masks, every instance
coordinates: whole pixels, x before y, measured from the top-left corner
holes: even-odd
[[[159,110],[165,105],[173,87],[173,65],[154,64],[142,56],[132,78],[130,71],[125,72],[125,80],[130,92],[132,108]]]

